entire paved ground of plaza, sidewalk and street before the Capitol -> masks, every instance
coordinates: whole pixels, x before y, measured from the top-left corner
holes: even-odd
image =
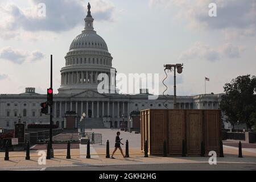
[[[123,159],[120,152],[116,159],[106,159],[106,141],[110,142],[110,153],[114,150],[115,134],[118,130],[97,129],[88,132],[101,133],[102,144],[91,144],[91,159],[86,159],[86,145],[73,144],[71,158],[65,159],[67,145],[53,147],[55,158],[46,160],[45,165],[39,165],[38,152],[46,150],[31,150],[31,160],[25,160],[26,152],[10,152],[10,160],[5,161],[5,152],[0,153],[0,170],[256,170],[255,144],[245,144],[242,149],[243,158],[238,158],[238,141],[224,141],[224,158],[217,158],[217,165],[209,165],[208,157],[150,156],[144,158],[141,151],[141,135],[121,132],[123,143],[129,139],[130,158]],[[32,146],[35,147],[35,146]],[[59,148],[59,149],[58,149]],[[125,145],[123,146],[125,151]]]

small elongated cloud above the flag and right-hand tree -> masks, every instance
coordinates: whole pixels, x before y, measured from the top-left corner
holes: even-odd
[[[233,46],[230,43],[226,43],[217,48],[212,48],[208,44],[197,42],[187,51],[181,53],[180,60],[203,59],[213,62],[218,61],[221,58],[233,59],[240,57],[244,49],[245,48],[243,47]]]

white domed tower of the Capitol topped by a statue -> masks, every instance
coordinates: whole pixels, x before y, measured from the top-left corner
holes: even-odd
[[[112,68],[113,57],[104,39],[94,31],[90,4],[82,33],[72,41],[65,56],[65,67],[61,68],[59,94],[77,94],[85,90],[97,91],[98,75],[105,73],[109,81],[115,80]],[[114,73],[113,73],[114,69]],[[114,75],[114,76],[113,76]]]

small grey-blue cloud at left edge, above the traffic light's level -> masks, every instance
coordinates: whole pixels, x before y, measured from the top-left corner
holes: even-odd
[[[13,49],[4,47],[0,49],[0,60],[8,60],[15,64],[22,64],[24,61],[38,61],[44,58],[44,54],[39,50],[28,53],[23,49]]]

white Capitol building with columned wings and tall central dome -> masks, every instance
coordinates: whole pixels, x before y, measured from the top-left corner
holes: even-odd
[[[85,28],[71,43],[65,56],[65,67],[60,71],[61,85],[58,94],[53,96],[53,122],[63,128],[76,127],[82,113],[85,113],[86,122],[92,127],[118,128],[123,119],[127,124],[133,111],[165,109],[163,103],[166,98],[159,96],[157,100],[148,100],[147,90],[133,95],[97,92],[98,75],[106,73],[111,77],[114,68],[106,42],[94,31],[93,20],[89,7]],[[166,104],[172,109],[173,96],[167,97]],[[36,93],[35,88],[26,88],[20,94],[1,94],[0,127],[14,129],[19,115],[26,125],[49,123],[49,116],[40,110],[40,104],[46,102],[46,98],[46,94]],[[219,109],[220,101],[221,94],[178,96],[177,108]]]

